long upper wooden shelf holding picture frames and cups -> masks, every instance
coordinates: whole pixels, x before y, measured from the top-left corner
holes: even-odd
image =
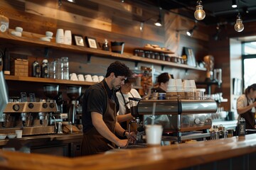
[[[10,31],[11,30],[9,30],[9,32]],[[46,41],[40,40],[39,39],[40,36],[43,37],[43,35],[38,35],[38,34],[33,34],[28,32],[23,32],[23,37],[16,37],[14,35],[11,35],[10,33],[0,33],[0,43],[1,45],[12,44],[12,45],[29,45],[29,46],[54,48],[58,50],[83,53],[90,56],[95,55],[100,57],[112,57],[112,58],[117,58],[121,60],[129,60],[129,61],[136,62],[136,64],[138,62],[146,62],[151,64],[159,64],[162,67],[169,66],[169,67],[176,67],[181,69],[195,69],[200,71],[206,71],[205,68],[198,68],[198,67],[189,66],[187,64],[176,64],[174,62],[166,62],[162,60],[154,60],[154,59],[148,59],[144,57],[138,57],[126,52],[124,52],[123,54],[119,54],[116,52],[98,50],[98,49],[93,49],[89,47],[81,47],[78,45],[64,45],[64,44],[58,44],[55,42],[46,42]],[[168,53],[171,53],[171,52],[168,52]],[[90,57],[88,57],[88,60],[90,62]]]

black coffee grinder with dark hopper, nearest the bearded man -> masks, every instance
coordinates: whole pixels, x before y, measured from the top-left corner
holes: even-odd
[[[64,121],[72,125],[82,124],[82,106],[80,106],[78,100],[81,96],[81,89],[81,86],[67,87],[67,96],[70,98],[70,101],[63,106],[63,114],[67,113],[68,116]]]

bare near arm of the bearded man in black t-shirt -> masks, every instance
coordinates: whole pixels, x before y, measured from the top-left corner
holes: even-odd
[[[91,116],[92,116],[92,125],[94,125],[94,127],[100,133],[100,135],[105,137],[107,140],[114,142],[114,144],[117,145],[118,147],[126,147],[126,145],[128,144],[128,140],[120,140],[118,137],[116,137],[116,135],[114,135],[114,133],[112,133],[109,130],[109,128],[107,128],[107,125],[102,119],[102,114],[97,112],[92,112]]]

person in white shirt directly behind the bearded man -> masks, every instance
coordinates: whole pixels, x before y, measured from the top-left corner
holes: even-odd
[[[119,112],[117,113],[117,121],[124,129],[127,129],[127,121],[133,119],[129,106],[129,97],[141,98],[139,92],[136,89],[132,89],[132,83],[134,83],[135,81],[136,79],[134,77],[127,78],[124,81],[124,85],[122,85],[119,91],[117,91],[117,98],[119,101]]]

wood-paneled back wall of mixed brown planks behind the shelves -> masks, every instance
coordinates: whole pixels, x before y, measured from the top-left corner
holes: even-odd
[[[105,38],[110,41],[125,42],[124,51],[132,53],[135,47],[144,47],[147,43],[168,47],[176,55],[181,55],[183,47],[193,47],[196,60],[202,60],[208,55],[208,28],[198,23],[193,38],[188,38],[185,30],[193,28],[194,21],[182,18],[174,13],[163,11],[164,27],[154,26],[159,13],[157,6],[144,6],[137,3],[127,4],[117,0],[88,0],[72,4],[63,0],[58,8],[58,1],[45,0],[2,0],[0,13],[10,20],[10,28],[21,26],[23,30],[45,35],[47,30],[54,33],[58,28],[71,30],[73,34],[96,38],[103,42]],[[150,18],[150,19],[149,19]],[[144,22],[143,31],[139,30],[140,22]],[[179,30],[179,31],[177,31]],[[5,47],[1,42],[1,47]],[[44,50],[40,47],[11,46],[12,54],[27,57],[31,62],[37,57],[43,60]],[[112,59],[92,57],[87,63],[87,55],[80,55],[61,50],[50,51],[49,60],[67,56],[70,60],[70,72],[78,74],[105,75]],[[122,60],[131,69],[136,69],[134,62]],[[152,67],[152,64],[139,63],[138,67]],[[154,65],[156,72],[170,72],[175,78],[205,79],[205,72]],[[201,80],[202,81],[202,80]]]

